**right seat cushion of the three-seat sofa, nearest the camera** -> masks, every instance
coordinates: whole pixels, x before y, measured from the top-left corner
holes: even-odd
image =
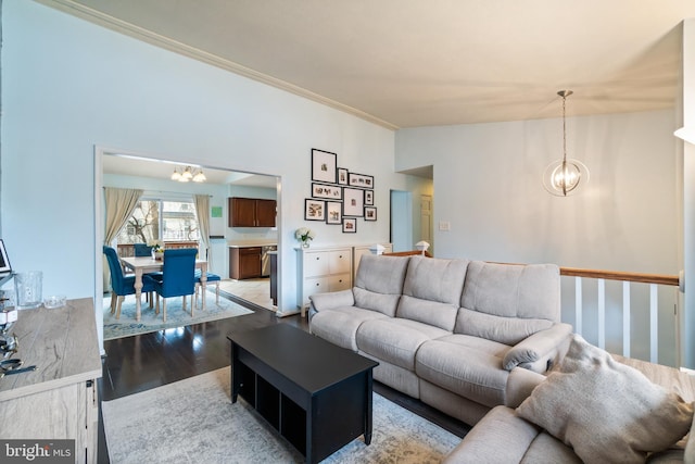
[[[467,335],[424,343],[415,356],[420,378],[489,407],[504,404],[507,377],[502,358],[509,347]]]

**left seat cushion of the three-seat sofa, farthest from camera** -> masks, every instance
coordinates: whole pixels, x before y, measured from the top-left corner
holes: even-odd
[[[357,351],[355,335],[365,321],[387,318],[377,311],[355,306],[336,308],[314,314],[309,325],[312,334],[342,348]]]

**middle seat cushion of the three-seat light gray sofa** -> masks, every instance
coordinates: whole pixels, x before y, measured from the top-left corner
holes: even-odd
[[[414,372],[418,348],[427,340],[448,334],[415,321],[380,318],[362,324],[356,342],[359,351]]]

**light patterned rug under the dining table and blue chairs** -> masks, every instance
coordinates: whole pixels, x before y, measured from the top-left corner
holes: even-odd
[[[191,317],[190,313],[190,299],[188,300],[186,312],[184,312],[181,308],[181,298],[167,299],[166,324],[164,324],[164,322],[162,322],[162,310],[160,309],[160,314],[155,315],[154,309],[150,309],[150,303],[144,301],[144,296],[142,297],[140,322],[135,321],[135,296],[130,294],[125,298],[123,306],[121,308],[119,318],[116,318],[115,314],[111,314],[111,297],[104,297],[104,340],[253,313],[253,311],[248,308],[235,303],[233,301],[224,298],[222,294],[219,296],[219,304],[215,303],[214,291],[207,291],[205,293],[205,310],[203,311],[202,309],[197,308],[193,311],[193,317]]]

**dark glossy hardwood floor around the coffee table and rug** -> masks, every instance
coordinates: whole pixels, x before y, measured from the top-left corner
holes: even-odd
[[[228,334],[270,324],[291,324],[308,330],[306,318],[299,314],[277,317],[271,311],[258,306],[252,309],[253,314],[105,341],[103,377],[99,381],[100,400],[114,400],[228,366]],[[374,391],[459,437],[469,430],[469,426],[460,421],[378,381],[375,381]],[[99,462],[109,463],[101,409]]]

